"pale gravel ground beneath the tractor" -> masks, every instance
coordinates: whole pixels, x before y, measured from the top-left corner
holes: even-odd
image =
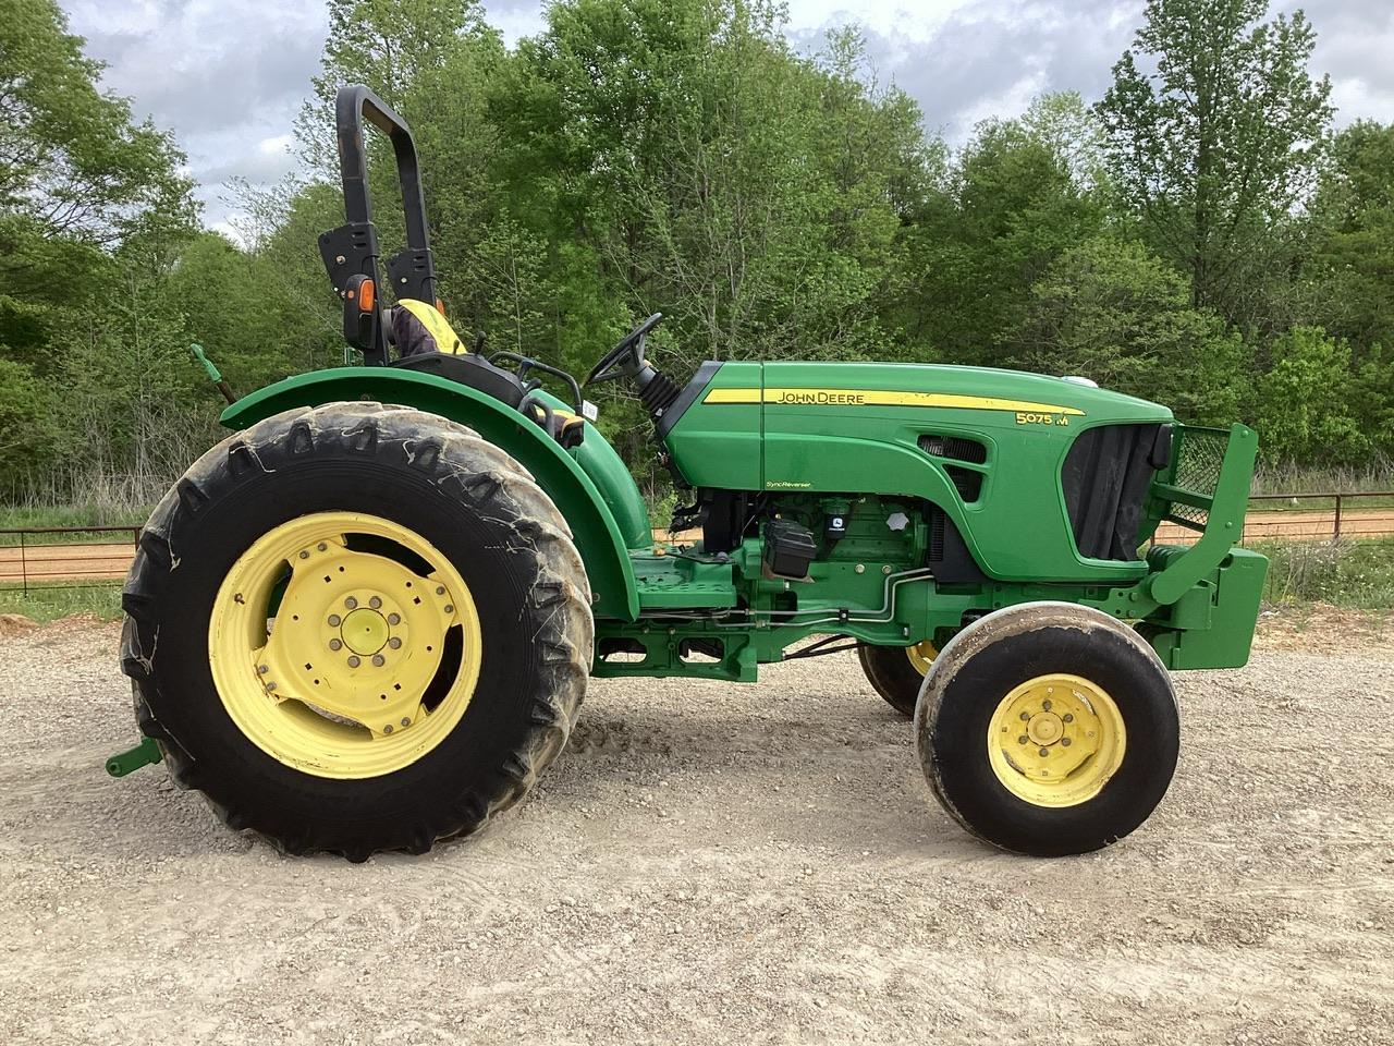
[[[530,802],[360,866],[109,780],[116,629],[11,630],[11,1043],[1394,1043],[1387,626],[1179,676],[1177,781],[1101,854],[967,838],[838,655],[597,682]]]

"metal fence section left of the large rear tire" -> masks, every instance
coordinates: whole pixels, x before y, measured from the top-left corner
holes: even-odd
[[[138,526],[0,530],[0,590],[114,584],[125,577],[139,537]]]

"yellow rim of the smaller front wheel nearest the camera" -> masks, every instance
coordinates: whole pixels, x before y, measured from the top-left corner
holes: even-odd
[[[1128,732],[1114,699],[1078,675],[1039,675],[1008,693],[987,727],[997,780],[1033,806],[1078,806],[1118,771]]]

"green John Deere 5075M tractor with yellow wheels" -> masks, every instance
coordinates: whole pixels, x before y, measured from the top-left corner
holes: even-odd
[[[406,212],[381,265],[365,119]],[[441,310],[406,124],[355,86],[337,132],[347,222],[321,251],[362,364],[233,403],[155,509],[123,593],[142,742],[113,774],[163,759],[290,854],[421,854],[527,794],[591,678],[751,682],[855,649],[980,838],[1079,854],[1150,814],[1177,763],[1168,672],[1249,655],[1250,430],[970,367],[680,382],[645,360],[658,314],[584,381],[487,358]],[[690,502],[672,541],[592,424],[604,382],[637,393]],[[1193,541],[1153,541],[1163,520]]]

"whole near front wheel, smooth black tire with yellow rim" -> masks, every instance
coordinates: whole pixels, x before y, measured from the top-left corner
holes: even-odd
[[[1150,646],[1101,611],[1008,607],[945,646],[914,717],[924,775],[979,838],[1085,854],[1142,824],[1171,784],[1179,715]]]

